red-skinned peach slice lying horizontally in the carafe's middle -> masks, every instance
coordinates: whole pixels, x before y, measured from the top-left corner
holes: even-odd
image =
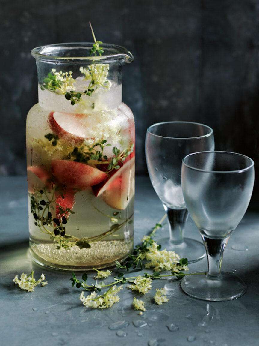
[[[52,173],[61,186],[84,190],[107,179],[107,174],[84,163],[53,160]]]

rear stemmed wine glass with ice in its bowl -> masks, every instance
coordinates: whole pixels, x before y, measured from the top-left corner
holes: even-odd
[[[175,251],[188,262],[205,257],[201,242],[183,238],[188,217],[181,188],[181,164],[184,156],[214,150],[213,130],[206,125],[188,121],[167,121],[147,129],[145,151],[151,183],[160,198],[169,221],[169,238],[157,242]]]

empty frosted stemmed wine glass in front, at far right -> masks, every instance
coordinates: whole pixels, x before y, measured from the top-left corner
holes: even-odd
[[[184,157],[184,200],[201,234],[209,265],[208,274],[188,275],[181,282],[182,290],[192,297],[225,301],[246,292],[241,279],[221,272],[221,263],[227,242],[247,210],[254,179],[253,160],[241,154],[215,151]]]

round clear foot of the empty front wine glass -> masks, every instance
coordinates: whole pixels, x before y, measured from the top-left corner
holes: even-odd
[[[221,272],[219,280],[209,279],[208,275],[204,275],[204,271],[193,274],[186,275],[180,283],[181,289],[193,298],[226,301],[241,297],[247,290],[243,280],[230,273]]]

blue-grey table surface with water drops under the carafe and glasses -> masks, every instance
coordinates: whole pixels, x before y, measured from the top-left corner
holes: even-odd
[[[121,299],[113,307],[87,309],[79,301],[81,290],[71,286],[71,273],[41,267],[28,254],[26,185],[23,176],[0,177],[1,345],[259,345],[258,212],[246,213],[223,258],[222,270],[247,283],[242,297],[206,302],[188,297],[175,279],[154,280],[152,289],[144,296],[124,285],[119,292]],[[137,177],[135,245],[163,215],[162,204],[148,177]],[[159,232],[159,237],[166,237],[167,225]],[[200,240],[190,218],[185,236]],[[190,264],[189,268],[190,272],[207,270],[207,260]],[[45,273],[48,281],[48,285],[37,286],[32,293],[12,282],[15,275],[29,274],[31,270],[36,278]],[[93,276],[89,272],[90,279]],[[158,306],[153,296],[155,288],[162,287],[167,289],[169,302]],[[145,301],[147,311],[142,316],[132,308],[134,296]]]

